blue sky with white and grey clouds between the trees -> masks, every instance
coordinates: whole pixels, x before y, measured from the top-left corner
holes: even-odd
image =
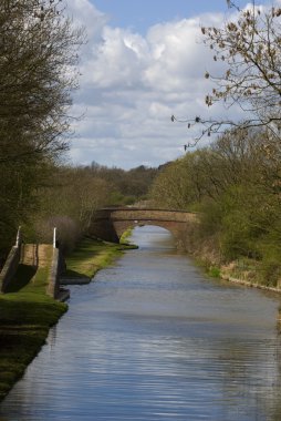
[[[247,1],[239,0],[239,6]],[[170,116],[226,115],[207,109],[219,73],[202,45],[201,25],[229,17],[226,0],[67,0],[73,20],[86,28],[80,90],[73,114],[70,161],[131,168],[158,166],[184,154],[195,134]],[[236,112],[236,111],[231,111]],[[236,112],[237,113],[237,112]]]

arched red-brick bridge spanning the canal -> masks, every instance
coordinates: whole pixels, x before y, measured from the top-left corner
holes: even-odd
[[[90,234],[106,242],[119,243],[122,234],[136,226],[157,225],[168,229],[176,239],[195,223],[197,215],[190,212],[145,209],[137,207],[104,208],[96,212]]]

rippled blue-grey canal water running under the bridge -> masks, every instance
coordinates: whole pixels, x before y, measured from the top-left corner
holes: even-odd
[[[277,295],[206,278],[157,227],[89,286],[1,421],[280,421]]]

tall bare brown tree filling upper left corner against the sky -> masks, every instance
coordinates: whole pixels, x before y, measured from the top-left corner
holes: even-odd
[[[0,4],[0,164],[67,147],[83,31],[60,0]]]

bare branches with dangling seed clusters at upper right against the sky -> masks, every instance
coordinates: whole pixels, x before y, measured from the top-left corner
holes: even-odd
[[[280,141],[281,129],[281,8],[251,7],[240,10],[233,2],[238,18],[223,28],[201,28],[204,42],[214,52],[214,60],[225,63],[222,74],[206,72],[205,78],[215,83],[206,95],[211,106],[223,102],[229,109],[238,104],[246,119],[205,120],[202,116],[186,120],[188,127],[200,125],[195,143],[205,135],[221,133],[227,127],[249,129],[261,126]],[[171,121],[177,119],[173,115]]]

